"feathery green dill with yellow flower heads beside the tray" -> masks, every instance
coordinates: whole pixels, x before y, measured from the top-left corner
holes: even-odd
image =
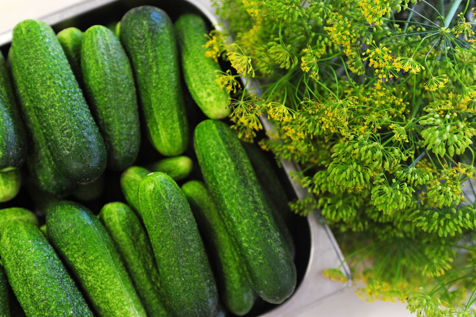
[[[359,295],[474,316],[476,4],[214,3],[229,26],[207,35],[207,55],[238,74],[217,73],[235,93],[233,128],[251,141],[260,115],[274,123],[260,145],[302,165],[294,178],[309,195],[292,208],[321,210],[365,282]]]

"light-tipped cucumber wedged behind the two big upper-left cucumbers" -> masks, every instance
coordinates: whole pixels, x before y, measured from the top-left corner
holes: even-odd
[[[66,58],[68,58],[69,65],[78,80],[79,86],[82,86],[81,41],[83,40],[83,32],[77,28],[67,28],[58,32],[56,37],[60,41]]]

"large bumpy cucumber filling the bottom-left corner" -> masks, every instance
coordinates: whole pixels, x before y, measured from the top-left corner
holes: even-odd
[[[93,316],[58,255],[35,225],[10,223],[1,235],[0,256],[27,316]]]

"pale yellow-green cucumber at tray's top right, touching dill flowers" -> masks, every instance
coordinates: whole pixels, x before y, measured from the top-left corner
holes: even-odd
[[[203,113],[211,119],[230,114],[229,93],[216,82],[218,62],[207,58],[205,43],[208,28],[196,14],[184,14],[175,22],[175,31],[182,59],[182,71],[190,95]]]

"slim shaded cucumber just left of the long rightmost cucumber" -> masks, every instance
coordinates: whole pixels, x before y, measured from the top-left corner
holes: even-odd
[[[248,314],[255,302],[255,293],[207,187],[202,182],[189,181],[183,184],[182,192],[215,259],[223,304],[237,316]]]

